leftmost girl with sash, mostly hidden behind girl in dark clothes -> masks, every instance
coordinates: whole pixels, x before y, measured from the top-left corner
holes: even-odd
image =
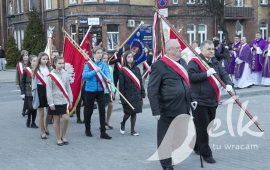
[[[19,58],[19,62],[16,64],[15,82],[16,82],[16,87],[18,89],[20,89],[20,86],[21,86],[21,79],[22,79],[22,75],[23,75],[23,69],[28,66],[27,64],[28,64],[28,52],[26,50],[22,50],[20,58]],[[27,104],[26,104],[26,101],[24,100],[23,110],[22,110],[22,115],[23,116],[25,116],[25,114],[26,114],[26,109],[27,109]]]

